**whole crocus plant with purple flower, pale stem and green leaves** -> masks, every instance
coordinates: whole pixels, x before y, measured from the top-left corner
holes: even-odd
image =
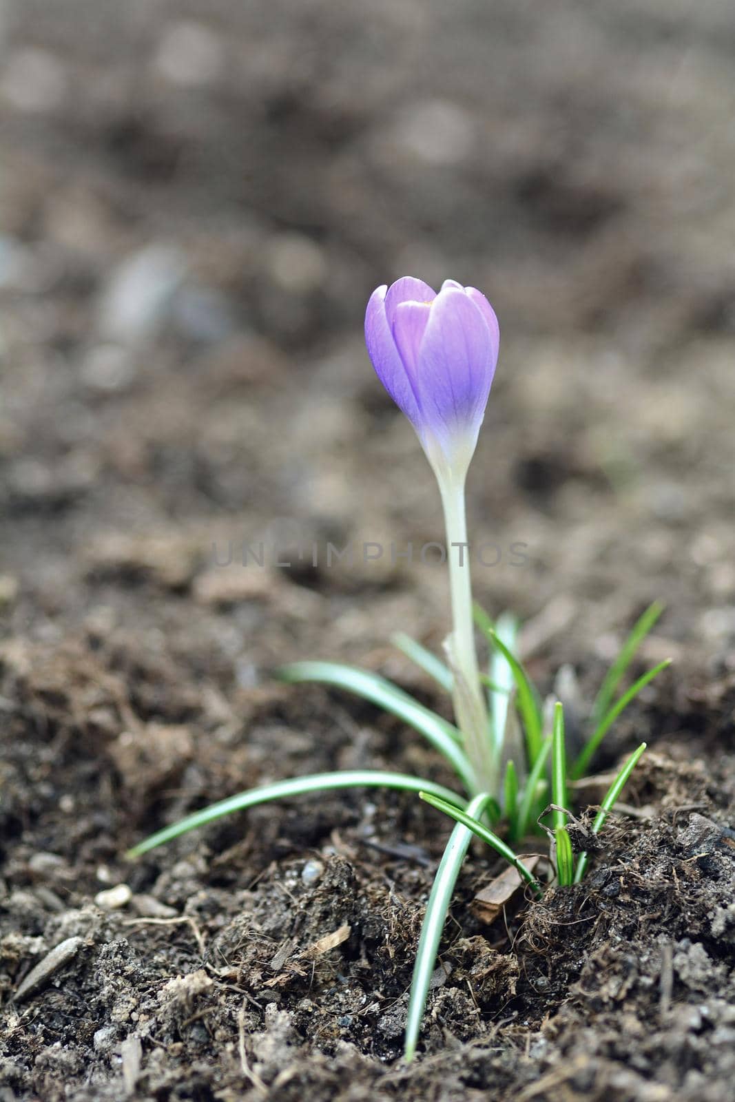
[[[541,895],[542,886],[521,860],[522,847],[529,835],[545,831],[551,840],[547,878],[560,886],[579,883],[587,853],[574,854],[568,830],[573,819],[572,782],[587,771],[620,712],[669,660],[648,670],[616,699],[640,642],[661,613],[655,603],[634,626],[613,662],[591,705],[583,749],[575,760],[568,761],[562,704],[552,699],[551,706],[545,706],[529,680],[516,653],[516,622],[506,614],[493,623],[472,599],[465,482],[498,359],[500,333],[495,312],[475,288],[445,280],[436,293],[422,280],[404,277],[371,294],[365,337],[380,381],[413,425],[436,476],[446,528],[452,631],[444,645],[445,660],[409,636],[398,635],[393,641],[451,695],[455,722],[379,674],[344,663],[296,662],[279,674],[290,682],[335,685],[399,716],[443,755],[462,791],[423,778],[369,769],[298,777],[240,792],[197,811],[141,842],[130,855],[138,856],[230,812],[328,789],[411,791],[443,811],[455,827],[434,877],[417,950],[406,1028],[406,1056],[410,1058],[419,1040],[454,885],[472,838],[482,839],[512,865],[533,898]],[[476,627],[489,648],[487,674],[479,669]],[[645,743],[638,746],[616,775],[590,834],[597,834],[603,827],[645,748]],[[550,827],[544,823],[547,815]]]

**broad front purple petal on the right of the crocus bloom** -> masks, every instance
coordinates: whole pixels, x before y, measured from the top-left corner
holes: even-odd
[[[480,307],[464,290],[441,291],[419,350],[417,390],[425,428],[444,440],[457,432],[476,437],[495,363]]]

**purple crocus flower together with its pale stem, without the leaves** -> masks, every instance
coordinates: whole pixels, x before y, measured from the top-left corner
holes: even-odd
[[[475,780],[494,791],[497,770],[473,630],[465,480],[498,361],[498,320],[473,287],[445,280],[436,294],[407,276],[370,295],[365,341],[378,378],[415,429],[436,475],[452,594],[453,631],[445,649],[454,714]]]

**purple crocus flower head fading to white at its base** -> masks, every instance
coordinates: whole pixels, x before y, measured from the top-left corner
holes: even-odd
[[[415,429],[440,479],[464,477],[500,344],[485,295],[451,279],[436,294],[406,276],[370,295],[365,341],[378,378]]]

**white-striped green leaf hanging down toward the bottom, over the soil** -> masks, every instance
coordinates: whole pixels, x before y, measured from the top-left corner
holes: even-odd
[[[422,792],[421,796],[422,799],[425,799],[425,793]],[[483,814],[489,799],[489,793],[480,792],[479,796],[476,796],[472,800],[467,807],[471,820],[474,820],[476,815]],[[431,800],[428,802],[431,802]],[[444,801],[440,800],[440,803],[443,804]],[[447,807],[452,807],[452,804],[447,804]],[[442,807],[440,810],[444,810],[444,808]],[[421,1019],[423,1018],[426,996],[429,994],[429,984],[431,983],[431,976],[436,962],[439,943],[442,939],[442,930],[444,929],[450,903],[452,901],[454,885],[457,882],[462,862],[467,854],[471,841],[472,830],[467,830],[466,827],[462,825],[455,827],[446,843],[442,860],[436,869],[436,875],[434,876],[434,883],[432,884],[419,937],[415,962],[413,964],[413,979],[411,981],[411,996],[409,998],[403,1048],[407,1060],[412,1059],[415,1054],[419,1033],[421,1031]]]

